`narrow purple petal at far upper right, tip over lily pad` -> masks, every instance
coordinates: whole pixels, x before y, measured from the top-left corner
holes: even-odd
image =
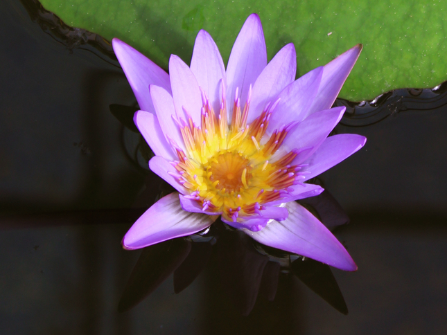
[[[362,48],[362,44],[357,44],[324,66],[322,83],[319,86],[313,105],[308,111],[309,114],[332,107],[344,81],[356,64]]]

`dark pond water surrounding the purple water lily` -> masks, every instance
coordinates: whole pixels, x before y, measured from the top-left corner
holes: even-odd
[[[0,334],[446,334],[446,85],[336,102],[351,113],[336,132],[368,142],[310,206],[349,216],[334,233],[356,273],[221,224],[123,251],[170,190],[123,125],[136,101],[118,62],[33,0],[0,16]]]

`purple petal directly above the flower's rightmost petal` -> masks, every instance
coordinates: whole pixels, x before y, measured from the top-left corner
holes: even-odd
[[[345,110],[346,107],[343,106],[317,111],[290,130],[283,142],[285,147],[290,149],[312,147],[312,150],[306,151],[306,155],[300,155],[300,161],[295,159],[294,164],[301,163],[318,149],[335,125],[338,124]]]

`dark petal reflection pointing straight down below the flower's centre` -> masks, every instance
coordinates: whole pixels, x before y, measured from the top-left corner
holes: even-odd
[[[268,257],[259,254],[241,231],[222,231],[216,247],[222,286],[240,313],[247,316],[256,302]]]

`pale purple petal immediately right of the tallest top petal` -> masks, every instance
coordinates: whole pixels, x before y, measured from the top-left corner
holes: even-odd
[[[265,66],[253,86],[252,101],[248,116],[251,123],[264,110],[267,102],[274,102],[278,93],[295,80],[297,54],[292,43],[284,46]]]

